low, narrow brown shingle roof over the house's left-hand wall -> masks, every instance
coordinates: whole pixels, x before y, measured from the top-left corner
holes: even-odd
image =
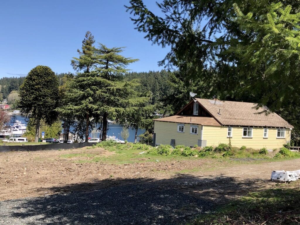
[[[209,125],[209,126],[221,126],[213,117],[201,117],[201,116],[168,116],[160,119],[154,119],[155,121],[185,123],[185,124],[197,124],[197,125]]]

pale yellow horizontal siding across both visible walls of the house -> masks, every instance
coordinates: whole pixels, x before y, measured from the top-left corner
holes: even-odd
[[[206,140],[206,146],[217,146],[220,143],[229,143],[227,137],[228,127],[203,126],[198,125],[198,134],[190,134],[190,127],[193,125],[184,124],[184,133],[177,131],[179,123],[173,122],[154,122],[155,144],[170,145],[171,140],[175,139],[175,145],[194,146],[198,140]],[[268,138],[264,138],[264,128],[253,128],[252,138],[243,138],[243,127],[232,127],[231,145],[235,147],[246,146],[253,149],[274,149],[281,148],[283,144],[290,141],[291,131],[286,129],[285,138],[277,138],[277,129],[268,128]]]

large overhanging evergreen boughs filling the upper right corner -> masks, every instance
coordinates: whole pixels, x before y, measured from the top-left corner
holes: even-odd
[[[271,110],[299,104],[298,1],[163,0],[163,16],[142,0],[127,10],[149,41],[171,50],[160,62],[175,66],[186,80],[202,77],[222,99],[253,101]],[[208,76],[207,76],[208,75]],[[291,95],[292,93],[292,95]]]

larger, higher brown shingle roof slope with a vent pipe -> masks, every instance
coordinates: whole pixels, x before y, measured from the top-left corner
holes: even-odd
[[[231,126],[259,126],[293,128],[288,122],[276,113],[259,113],[268,110],[249,102],[220,101],[196,98],[220,124]],[[220,110],[220,115],[218,114]]]

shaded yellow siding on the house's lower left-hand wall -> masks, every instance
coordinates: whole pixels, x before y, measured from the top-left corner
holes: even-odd
[[[154,122],[154,133],[156,145],[170,145],[171,139],[175,139],[175,145],[194,146],[201,139],[201,125],[198,126],[198,134],[190,134],[190,124],[184,124],[184,133],[177,131],[179,123],[171,122]]]

